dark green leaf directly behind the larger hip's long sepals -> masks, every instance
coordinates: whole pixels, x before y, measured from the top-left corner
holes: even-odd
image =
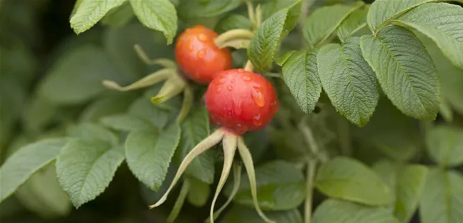
[[[305,197],[303,174],[291,163],[282,160],[260,165],[255,169],[258,204],[262,210],[289,210],[299,206]],[[232,184],[225,189],[230,196]],[[235,199],[238,204],[252,207],[251,186],[247,176],[242,176]]]

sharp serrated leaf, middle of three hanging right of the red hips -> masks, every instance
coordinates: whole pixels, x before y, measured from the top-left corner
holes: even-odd
[[[376,76],[362,57],[360,38],[328,44],[317,54],[323,90],[337,112],[357,126],[364,126],[380,97]]]

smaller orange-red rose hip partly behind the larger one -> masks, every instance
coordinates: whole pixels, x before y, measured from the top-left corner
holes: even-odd
[[[217,33],[204,26],[188,28],[176,42],[175,58],[185,76],[207,84],[218,72],[230,69],[230,50],[214,44]]]

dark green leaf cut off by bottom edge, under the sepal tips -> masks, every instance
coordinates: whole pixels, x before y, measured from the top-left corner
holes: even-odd
[[[299,210],[280,210],[264,212],[273,222],[284,223],[303,223],[302,215]],[[255,210],[243,206],[233,206],[221,223],[266,223]]]

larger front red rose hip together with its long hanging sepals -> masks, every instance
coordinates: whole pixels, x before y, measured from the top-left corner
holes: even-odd
[[[236,195],[237,188],[239,188],[239,178],[237,178],[239,167],[236,167],[234,168],[234,175],[238,182],[235,182],[232,194],[228,197],[226,204],[214,213],[215,202],[230,174],[233,158],[237,149],[239,156],[242,158],[244,168],[248,173],[255,210],[257,210],[258,214],[265,222],[273,222],[264,215],[262,210],[260,210],[257,199],[253,159],[251,157],[251,152],[248,147],[246,147],[246,144],[244,144],[244,140],[241,136],[241,134],[246,131],[262,129],[271,122],[279,106],[273,86],[259,74],[246,72],[243,69],[230,69],[218,74],[210,83],[205,93],[205,103],[210,113],[211,122],[220,124],[221,127],[203,141],[199,142],[199,144],[185,156],[165,195],[163,195],[156,204],[150,206],[150,208],[155,208],[165,202],[169,192],[174,188],[180,176],[185,172],[187,166],[190,165],[196,156],[199,156],[199,154],[202,154],[204,151],[222,142],[224,149],[224,168],[214,194],[214,199],[212,199],[210,222],[213,223],[226,205],[230,204],[230,201]]]

